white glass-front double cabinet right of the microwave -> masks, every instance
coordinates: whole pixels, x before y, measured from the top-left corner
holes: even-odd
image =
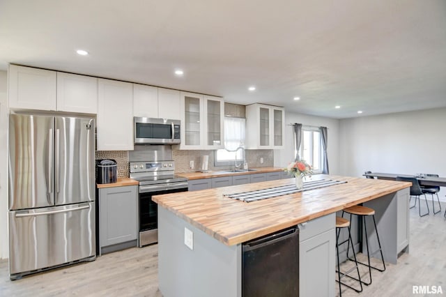
[[[223,148],[223,98],[181,92],[180,107],[180,149]]]

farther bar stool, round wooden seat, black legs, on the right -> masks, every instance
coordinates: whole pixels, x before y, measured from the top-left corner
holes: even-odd
[[[369,207],[365,207],[365,206],[360,206],[360,205],[355,205],[355,206],[351,206],[348,208],[344,208],[344,210],[342,211],[342,216],[344,217],[344,212],[350,214],[350,220],[351,220],[351,215],[357,215],[362,217],[362,222],[364,224],[364,232],[365,232],[365,243],[366,243],[366,248],[367,248],[367,264],[362,263],[360,261],[357,261],[357,263],[362,264],[364,266],[369,267],[369,276],[370,276],[370,282],[364,282],[361,281],[363,284],[365,285],[369,285],[371,284],[371,268],[374,268],[377,271],[383,272],[385,271],[385,263],[384,263],[384,257],[383,257],[383,250],[381,250],[381,243],[379,241],[379,236],[378,236],[378,229],[376,229],[376,220],[375,220],[375,210],[373,208],[369,208]],[[375,252],[370,252],[369,251],[369,238],[367,236],[367,225],[365,224],[365,218],[366,217],[370,217],[373,218],[374,220],[374,226],[375,226],[375,231],[376,231],[376,238],[378,239],[378,250],[376,250]],[[347,246],[347,254],[348,254],[348,248],[349,248],[350,244]],[[352,247],[353,248],[353,247]],[[381,260],[383,261],[383,268],[377,268],[374,266],[371,266],[370,264],[370,256],[373,256],[374,254],[376,254],[377,252],[380,252],[381,254]],[[353,261],[352,259],[348,258],[349,260]]]

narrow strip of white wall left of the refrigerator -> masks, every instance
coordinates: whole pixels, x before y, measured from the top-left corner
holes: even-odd
[[[8,258],[7,132],[6,71],[0,71],[0,259]]]

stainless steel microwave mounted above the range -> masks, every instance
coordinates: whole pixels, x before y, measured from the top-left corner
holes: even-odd
[[[134,116],[134,144],[179,144],[180,121]]]

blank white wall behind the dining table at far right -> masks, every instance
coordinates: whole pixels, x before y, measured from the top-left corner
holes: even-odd
[[[445,128],[446,108],[341,120],[340,174],[361,176],[370,170],[446,176]],[[445,194],[442,188],[440,199]]]

